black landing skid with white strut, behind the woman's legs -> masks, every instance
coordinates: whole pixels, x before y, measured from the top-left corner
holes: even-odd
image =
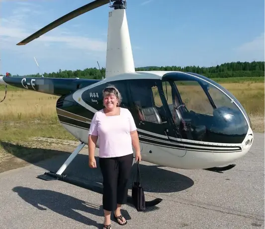
[[[74,158],[79,154],[79,152],[84,148],[85,143],[81,142],[79,146],[74,150],[74,152],[69,156],[69,158],[65,161],[65,163],[61,166],[61,168],[57,172],[45,172],[44,174],[38,175],[37,178],[42,180],[61,180],[85,189],[88,189],[90,191],[103,194],[103,187],[99,184],[94,184],[92,182],[83,182],[81,180],[77,180],[74,178],[68,177],[66,174],[62,174],[66,168],[69,166],[69,164],[74,160]],[[154,207],[157,204],[159,204],[162,201],[160,198],[156,198],[151,201],[146,201],[146,208]],[[128,195],[127,197],[127,203],[130,203],[133,205],[133,199],[131,196]]]

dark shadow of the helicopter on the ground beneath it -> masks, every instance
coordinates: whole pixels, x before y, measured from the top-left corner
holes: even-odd
[[[41,149],[41,148],[27,148],[24,146],[17,146],[11,143],[0,142],[2,148],[6,152],[11,153],[12,155],[21,158],[18,151],[34,150],[37,155],[41,154],[55,154],[60,155],[59,157],[50,158],[44,161],[38,161],[33,157],[27,158],[22,157],[24,161],[45,169],[47,172],[57,172],[58,169],[63,165],[66,159],[69,157],[70,153],[65,151]],[[88,155],[78,154],[63,174],[67,174],[68,177],[73,177],[78,180],[96,182],[102,184],[102,175],[99,168],[98,157],[95,157],[97,168],[91,169],[88,167]],[[144,190],[147,192],[153,193],[170,193],[170,192],[179,192],[185,189],[188,189],[194,184],[194,181],[189,177],[182,175],[177,172],[172,172],[157,165],[139,165],[141,173],[141,183],[144,187]],[[134,165],[132,167],[131,176],[129,179],[129,190],[131,190],[131,184],[133,180],[136,179],[137,167]]]

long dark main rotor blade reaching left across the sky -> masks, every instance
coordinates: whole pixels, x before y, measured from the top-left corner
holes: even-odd
[[[102,6],[104,4],[109,3],[109,0],[94,0],[86,5],[83,5],[75,10],[73,10],[72,12],[58,18],[57,20],[53,21],[52,23],[46,25],[45,27],[43,27],[42,29],[38,30],[37,32],[33,33],[32,35],[30,35],[29,37],[27,37],[26,39],[24,39],[23,41],[19,42],[16,45],[26,45],[27,43],[33,41],[34,39],[40,37],[41,35],[47,33],[48,31],[56,28],[57,26],[83,14],[86,13],[92,9],[95,9],[99,6]]]

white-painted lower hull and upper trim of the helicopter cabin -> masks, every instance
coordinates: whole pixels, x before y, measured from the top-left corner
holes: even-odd
[[[88,90],[96,91],[96,88],[100,87],[100,85],[107,85],[113,83],[115,84],[116,81],[120,80],[161,80],[165,74],[174,72],[175,71],[138,71],[122,73],[116,76],[105,78],[95,84],[91,84],[76,91],[73,94],[73,99],[75,100],[75,102],[86,108],[88,111],[95,113],[97,112],[97,110],[89,106],[89,104],[83,100],[82,95],[84,92]],[[182,72],[181,74],[189,75],[188,73]],[[209,84],[211,84],[211,82],[209,82]],[[220,93],[225,94],[222,89],[218,88],[218,90],[220,91]],[[230,99],[231,101],[233,100],[233,98]],[[240,108],[238,109],[240,110]],[[243,112],[242,116],[247,120],[247,117]],[[91,119],[89,119],[87,122],[90,121]],[[77,139],[88,144],[88,130],[74,127],[73,125],[69,125],[67,123],[62,123],[62,125]],[[250,126],[250,123],[248,123],[248,132],[246,134],[245,139],[239,144],[203,142],[171,137],[171,140],[175,141],[175,143],[173,145],[171,144],[171,146],[167,146],[165,144],[169,144],[169,139],[166,135],[153,133],[155,131],[153,131],[152,129],[147,131],[142,128],[138,128],[137,130],[139,138],[141,138],[141,155],[144,161],[154,163],[160,166],[167,166],[178,169],[204,169],[231,163],[243,157],[249,151],[253,143],[253,131]],[[148,142],[148,140],[152,140],[153,143]],[[224,147],[226,148],[224,149]]]

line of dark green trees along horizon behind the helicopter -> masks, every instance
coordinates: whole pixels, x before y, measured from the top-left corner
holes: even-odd
[[[147,66],[137,67],[136,71],[185,71],[194,72],[204,75],[208,78],[230,78],[230,77],[259,77],[264,76],[265,61],[253,61],[253,62],[229,62],[212,67],[200,67],[200,66]],[[86,68],[84,70],[61,70],[58,72],[44,73],[44,77],[52,78],[87,78],[87,79],[102,79],[105,76],[105,68],[100,70],[96,67]],[[10,76],[12,74],[10,73]],[[39,73],[33,75],[13,75],[16,77],[41,77]]]

